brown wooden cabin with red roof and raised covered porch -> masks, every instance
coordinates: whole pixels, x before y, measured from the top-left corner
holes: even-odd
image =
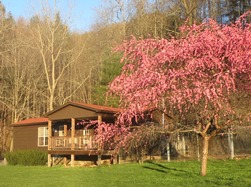
[[[27,119],[13,124],[13,150],[40,149],[48,152],[48,166],[62,158],[74,166],[75,160],[101,163],[102,157],[114,157],[112,150],[101,150],[93,128],[79,125],[83,120],[114,123],[118,108],[70,102],[45,114],[45,118]]]

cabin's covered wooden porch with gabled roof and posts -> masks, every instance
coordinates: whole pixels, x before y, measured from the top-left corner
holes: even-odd
[[[81,125],[83,120],[95,120],[114,123],[117,108],[90,105],[83,103],[67,103],[46,114],[48,120],[48,166],[53,165],[55,157],[63,157],[66,165],[75,165],[75,158],[84,156],[96,157],[99,165],[102,157],[117,158],[113,150],[102,150],[95,141],[95,129]],[[112,160],[116,162],[117,159]]]

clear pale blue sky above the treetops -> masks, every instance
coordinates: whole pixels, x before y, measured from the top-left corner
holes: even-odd
[[[38,11],[39,2],[47,0],[1,0],[7,12],[11,12],[15,19],[24,17],[29,19]],[[48,0],[51,5],[55,0]],[[89,31],[95,22],[95,9],[101,6],[102,0],[57,0],[62,15],[69,15],[69,23],[73,31]],[[69,8],[72,7],[72,8]]]

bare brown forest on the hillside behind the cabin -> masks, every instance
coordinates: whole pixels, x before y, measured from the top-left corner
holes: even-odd
[[[14,19],[0,4],[0,152],[10,124],[39,117],[68,101],[117,106],[106,94],[119,73],[124,40],[179,37],[179,27],[207,18],[230,24],[249,0],[104,0],[88,32],[71,30],[60,12],[41,4],[31,19]],[[84,20],[81,20],[84,21]]]

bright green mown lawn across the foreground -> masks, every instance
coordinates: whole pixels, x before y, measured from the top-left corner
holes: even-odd
[[[0,166],[2,186],[251,186],[251,159],[209,161],[206,177],[200,163],[148,162],[100,167]]]

